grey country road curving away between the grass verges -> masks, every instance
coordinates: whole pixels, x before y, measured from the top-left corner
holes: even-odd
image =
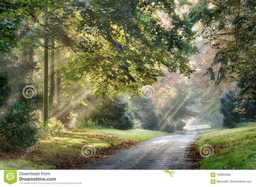
[[[185,134],[152,138],[84,169],[192,169],[186,154],[198,132],[194,125],[184,128]]]

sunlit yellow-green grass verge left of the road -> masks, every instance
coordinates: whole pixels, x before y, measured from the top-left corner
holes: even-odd
[[[21,150],[17,155],[0,156],[0,169],[52,169],[63,161],[76,160],[82,155],[81,148],[84,145],[93,145],[99,150],[115,147],[123,142],[140,142],[171,134],[139,129],[129,131],[113,129],[67,131],[62,135],[41,140],[37,146],[30,148],[31,152],[24,159],[19,158],[24,156],[27,150]]]

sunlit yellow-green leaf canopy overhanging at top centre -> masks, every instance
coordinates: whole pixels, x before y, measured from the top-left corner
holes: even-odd
[[[173,6],[173,1],[161,1],[156,7],[141,1],[80,3],[79,56],[63,67],[65,75],[91,82],[95,93],[104,97],[138,93],[143,85],[153,84],[164,75],[163,66],[189,76],[193,70],[188,55],[196,50],[185,32],[179,33],[183,23],[167,9]],[[158,9],[175,20],[172,29],[160,25]]]

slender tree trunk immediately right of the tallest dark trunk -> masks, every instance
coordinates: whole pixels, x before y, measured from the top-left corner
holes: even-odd
[[[51,47],[55,47],[55,39],[51,40]],[[50,115],[52,117],[52,105],[53,105],[53,96],[54,96],[54,60],[55,60],[55,49],[51,49],[51,56],[50,56],[50,93],[49,93],[49,109]]]

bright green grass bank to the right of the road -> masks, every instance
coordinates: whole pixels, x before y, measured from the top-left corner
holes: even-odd
[[[206,144],[214,154],[201,161],[201,169],[256,169],[256,123],[202,134],[197,149]]]

